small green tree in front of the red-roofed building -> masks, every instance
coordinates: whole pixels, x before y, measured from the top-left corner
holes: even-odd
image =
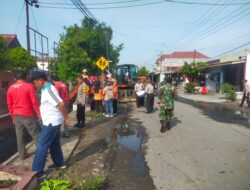
[[[205,66],[206,63],[204,62],[185,63],[181,68],[181,73],[186,76],[197,77],[205,70]]]

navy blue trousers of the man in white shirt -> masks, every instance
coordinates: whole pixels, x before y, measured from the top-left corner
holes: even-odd
[[[32,164],[32,171],[38,174],[43,173],[48,150],[50,151],[55,166],[60,167],[64,164],[63,152],[60,144],[60,127],[61,125],[52,126],[51,124],[41,127],[41,134]]]

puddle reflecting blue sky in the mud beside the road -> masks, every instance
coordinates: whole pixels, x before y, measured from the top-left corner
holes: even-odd
[[[113,131],[113,138],[122,148],[132,152],[127,158],[131,171],[137,176],[148,174],[142,151],[144,131],[136,123],[122,121]]]

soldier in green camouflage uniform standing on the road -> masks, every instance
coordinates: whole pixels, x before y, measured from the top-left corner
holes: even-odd
[[[171,84],[171,79],[164,79],[159,86],[159,102],[161,132],[170,129],[170,122],[174,116],[174,100],[176,98],[176,89]]]

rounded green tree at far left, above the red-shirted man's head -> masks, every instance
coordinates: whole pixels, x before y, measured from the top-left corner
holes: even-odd
[[[27,71],[37,68],[35,59],[21,47],[10,49],[8,52],[9,63],[6,70],[9,71]]]

